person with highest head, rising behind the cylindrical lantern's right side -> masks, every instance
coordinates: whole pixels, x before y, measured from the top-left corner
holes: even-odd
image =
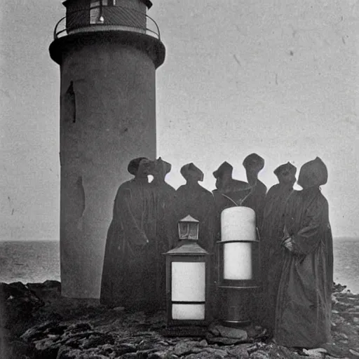
[[[248,183],[252,186],[252,191],[245,201],[245,205],[255,211],[257,228],[259,229],[262,226],[266,185],[259,181],[258,174],[264,168],[264,159],[257,154],[250,154],[245,157],[243,167],[247,174]]]

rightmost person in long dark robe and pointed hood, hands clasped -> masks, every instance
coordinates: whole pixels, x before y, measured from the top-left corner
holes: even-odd
[[[285,259],[278,289],[275,339],[283,346],[317,348],[331,340],[332,231],[320,192],[327,168],[320,158],[305,163],[285,210]]]

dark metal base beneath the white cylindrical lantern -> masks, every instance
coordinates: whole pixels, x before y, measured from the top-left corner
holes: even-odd
[[[226,327],[243,327],[255,320],[256,299],[259,287],[226,287],[219,285],[222,308],[219,316]]]

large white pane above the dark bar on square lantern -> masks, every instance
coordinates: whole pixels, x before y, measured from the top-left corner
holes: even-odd
[[[172,262],[171,299],[205,302],[205,262]]]

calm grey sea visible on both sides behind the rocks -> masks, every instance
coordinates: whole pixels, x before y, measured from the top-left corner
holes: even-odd
[[[359,238],[334,238],[334,282],[359,294]],[[0,241],[0,282],[60,281],[58,241]]]

